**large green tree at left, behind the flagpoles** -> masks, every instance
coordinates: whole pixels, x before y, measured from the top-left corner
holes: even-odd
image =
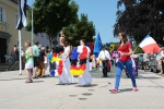
[[[33,10],[34,33],[46,33],[51,44],[62,27],[77,22],[79,5],[72,0],[35,0]],[[28,31],[32,29],[31,25],[30,22]]]

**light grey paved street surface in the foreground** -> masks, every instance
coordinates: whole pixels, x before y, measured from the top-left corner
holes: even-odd
[[[98,71],[91,72],[93,82],[80,87],[56,85],[58,77],[34,80],[26,84],[26,75],[19,71],[0,72],[0,109],[163,109],[164,76],[139,71],[139,90],[131,92],[131,81],[122,73],[118,94],[109,88],[115,84],[115,68],[107,78]]]

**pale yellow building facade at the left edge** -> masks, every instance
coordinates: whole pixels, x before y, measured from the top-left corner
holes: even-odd
[[[28,12],[26,13],[28,20]],[[19,31],[15,28],[17,21],[17,0],[0,0],[0,63],[5,62],[4,55],[11,55],[14,45],[19,46]],[[24,48],[24,41],[32,40],[32,33],[25,28],[22,28],[21,33]]]

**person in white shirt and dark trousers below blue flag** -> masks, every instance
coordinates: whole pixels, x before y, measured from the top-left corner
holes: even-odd
[[[98,55],[97,62],[99,60],[103,62],[103,77],[107,77],[107,62],[110,60],[110,55],[106,50],[105,46],[103,46],[102,51]]]

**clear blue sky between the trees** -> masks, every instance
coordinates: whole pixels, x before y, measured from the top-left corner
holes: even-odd
[[[35,0],[33,0],[35,1]],[[79,4],[79,12],[87,14],[89,21],[92,21],[96,28],[96,35],[99,33],[102,43],[116,43],[114,38],[114,24],[116,23],[117,1],[118,0],[74,0]],[[32,4],[32,0],[27,0]]]

